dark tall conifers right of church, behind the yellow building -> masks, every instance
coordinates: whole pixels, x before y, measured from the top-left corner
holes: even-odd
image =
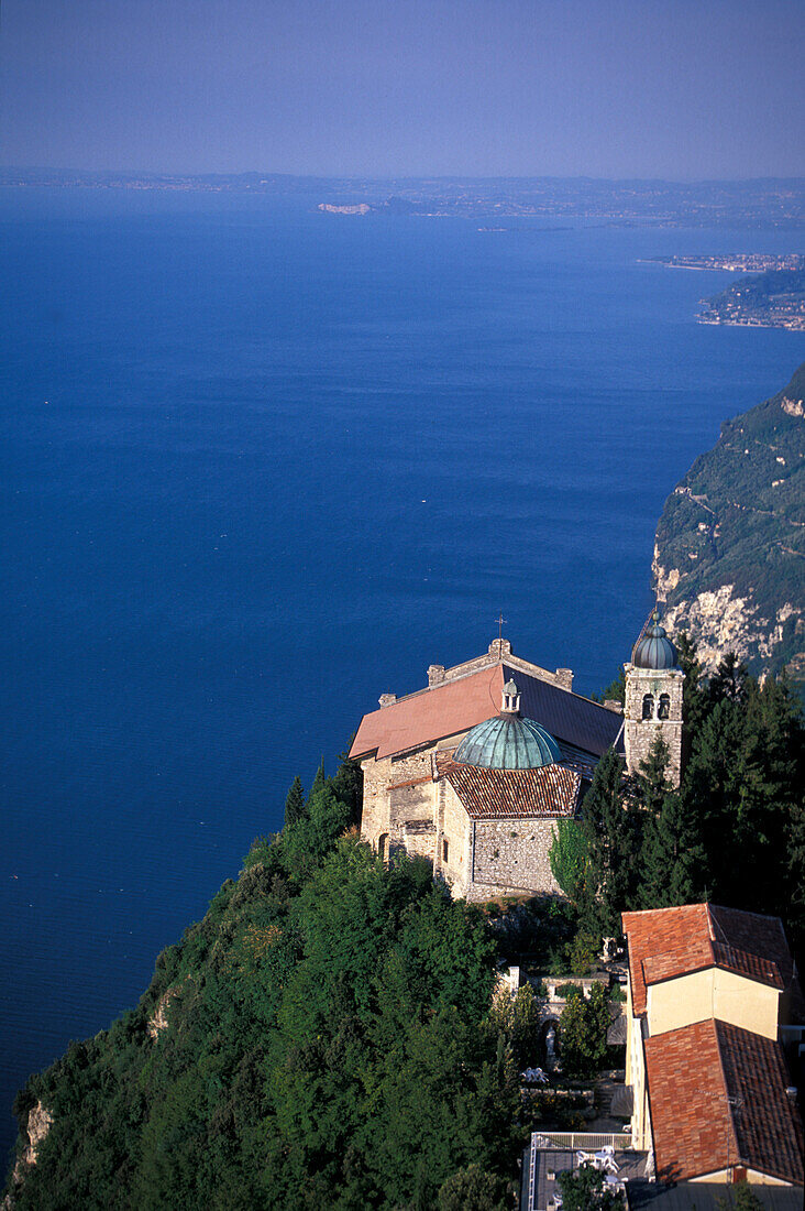
[[[689,752],[682,786],[666,781],[659,742],[627,777],[604,754],[580,830],[559,826],[551,863],[579,928],[620,934],[632,908],[714,903],[782,917],[801,958],[805,943],[805,725],[786,679],[760,685],[734,656],[705,679],[696,650],[678,639]]]

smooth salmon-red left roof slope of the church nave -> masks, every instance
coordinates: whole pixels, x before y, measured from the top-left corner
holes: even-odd
[[[380,761],[445,736],[458,736],[500,710],[502,690],[502,666],[493,665],[383,706],[363,716],[350,757],[368,757],[374,752]]]

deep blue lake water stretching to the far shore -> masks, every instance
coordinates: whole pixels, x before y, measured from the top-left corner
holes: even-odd
[[[805,356],[640,263],[786,234],[513,225],[0,195],[4,1146],[381,691],[501,609],[605,684],[666,495]]]

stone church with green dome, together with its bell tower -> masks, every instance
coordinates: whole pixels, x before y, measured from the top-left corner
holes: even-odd
[[[350,751],[363,769],[362,838],[384,859],[427,857],[467,900],[559,894],[556,822],[577,816],[608,748],[633,770],[659,734],[679,781],[684,675],[656,614],[625,668],[625,708],[600,705],[574,693],[571,670],[498,638],[453,668],[431,665],[413,694],[383,694]]]

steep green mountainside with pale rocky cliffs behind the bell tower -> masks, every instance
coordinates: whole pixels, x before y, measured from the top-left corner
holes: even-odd
[[[805,365],[784,390],[721,426],[662,510],[654,576],[666,624],[713,668],[805,685]]]

